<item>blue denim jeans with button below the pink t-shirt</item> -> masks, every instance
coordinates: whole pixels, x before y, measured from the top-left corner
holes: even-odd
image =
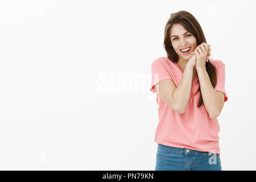
[[[220,154],[159,143],[155,171],[222,171]]]

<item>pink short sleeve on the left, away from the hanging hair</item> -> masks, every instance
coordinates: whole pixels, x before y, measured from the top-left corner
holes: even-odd
[[[170,73],[168,72],[168,69],[166,67],[166,64],[161,59],[156,59],[152,65],[151,65],[151,74],[152,74],[152,80],[151,80],[151,92],[156,92],[155,84],[158,84],[160,81],[172,79]]]

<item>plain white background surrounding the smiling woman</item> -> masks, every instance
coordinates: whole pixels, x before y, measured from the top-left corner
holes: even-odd
[[[1,1],[0,169],[154,170],[171,13],[226,65],[222,170],[255,170],[255,1]]]

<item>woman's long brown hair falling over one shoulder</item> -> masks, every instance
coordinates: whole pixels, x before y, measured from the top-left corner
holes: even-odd
[[[178,55],[175,52],[174,47],[172,47],[170,32],[172,26],[176,23],[181,24],[185,30],[196,37],[197,46],[199,46],[201,43],[207,43],[199,22],[197,22],[196,18],[192,14],[188,13],[187,11],[177,11],[176,13],[172,13],[164,30],[164,49],[166,49],[167,58],[174,63],[177,63]],[[212,63],[210,63],[210,61],[205,63],[205,67],[209,75],[210,82],[212,83],[213,88],[215,88],[217,83],[216,68]],[[197,82],[198,81],[199,80],[197,80]],[[198,92],[200,92],[200,98],[197,107],[200,107],[203,104],[200,86],[195,94]]]

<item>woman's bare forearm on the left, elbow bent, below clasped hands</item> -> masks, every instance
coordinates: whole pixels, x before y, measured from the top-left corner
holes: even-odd
[[[192,77],[193,77],[193,67],[191,65],[186,65],[183,76],[181,78],[180,84],[174,90],[172,98],[175,100],[180,108],[180,112],[184,113],[185,108],[188,104],[189,97],[191,94],[191,85],[192,85]]]

